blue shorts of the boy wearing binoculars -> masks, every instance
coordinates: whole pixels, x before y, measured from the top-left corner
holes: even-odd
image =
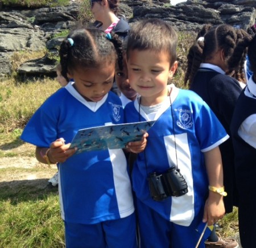
[[[195,248],[205,226],[202,222],[203,211],[200,216],[194,218],[190,226],[181,226],[165,220],[159,213],[138,199],[137,210],[141,248]],[[204,241],[209,237],[210,232],[210,230],[208,233],[205,232],[199,245],[200,248],[205,247]]]

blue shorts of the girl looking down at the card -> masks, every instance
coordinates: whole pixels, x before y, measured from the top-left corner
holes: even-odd
[[[67,248],[136,248],[135,214],[92,225],[65,221],[65,243]]]

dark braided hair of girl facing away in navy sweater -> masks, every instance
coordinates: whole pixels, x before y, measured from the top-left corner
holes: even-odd
[[[187,71],[185,72],[184,84],[192,84],[200,64],[204,61],[212,59],[219,49],[223,49],[228,72],[240,78],[245,78],[244,61],[246,55],[246,47],[250,42],[250,35],[245,31],[236,30],[236,28],[228,24],[220,24],[210,27],[204,26],[199,32],[199,39],[193,43],[189,49],[187,56]]]

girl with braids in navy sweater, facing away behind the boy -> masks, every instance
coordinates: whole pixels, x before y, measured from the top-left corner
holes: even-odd
[[[242,71],[249,35],[239,34],[234,27],[221,24],[216,27],[204,26],[197,41],[189,49],[185,85],[195,91],[210,106],[230,135],[230,123],[234,106],[242,88],[239,82],[229,75]],[[240,75],[241,76],[241,75]],[[207,127],[205,127],[207,128]],[[214,131],[214,130],[212,130]],[[224,197],[226,213],[233,211],[238,204],[238,193],[234,176],[234,148],[232,139],[220,145],[224,185],[228,196]],[[238,247],[233,239],[222,240],[213,231],[205,242],[212,246]]]

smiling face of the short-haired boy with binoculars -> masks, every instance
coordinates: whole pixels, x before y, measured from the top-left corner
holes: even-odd
[[[167,52],[151,50],[130,51],[127,68],[131,87],[142,96],[143,105],[159,104],[167,96],[167,82],[177,68],[177,61],[170,67]]]

